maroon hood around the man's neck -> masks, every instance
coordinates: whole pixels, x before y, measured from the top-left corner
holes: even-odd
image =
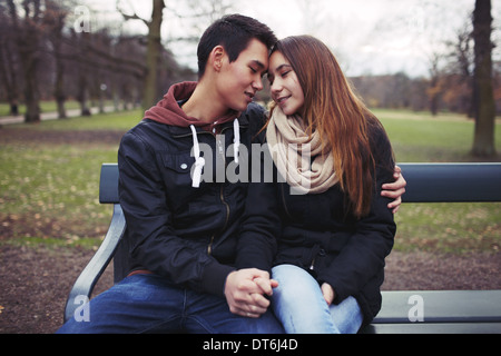
[[[197,118],[187,116],[179,106],[180,101],[186,101],[191,97],[196,87],[196,81],[185,81],[171,86],[164,98],[145,112],[145,119],[177,127],[209,126],[200,122]],[[234,120],[238,116],[239,112],[237,111],[228,111],[227,115],[217,120],[217,125]]]

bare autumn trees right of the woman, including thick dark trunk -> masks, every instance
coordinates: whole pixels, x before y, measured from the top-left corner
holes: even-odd
[[[445,51],[430,56],[429,78],[404,73],[354,78],[355,87],[372,107],[429,109],[465,113],[474,119],[472,154],[495,156],[495,115],[501,112],[501,62],[492,61],[490,0],[475,0],[471,18],[446,41]]]

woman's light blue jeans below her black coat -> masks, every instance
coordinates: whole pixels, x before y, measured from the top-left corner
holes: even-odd
[[[327,305],[318,283],[303,268],[281,265],[272,269],[278,287],[273,310],[287,334],[355,334],[363,316],[353,297]]]

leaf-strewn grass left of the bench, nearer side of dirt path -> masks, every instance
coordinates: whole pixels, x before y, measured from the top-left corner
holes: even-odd
[[[67,240],[104,231],[110,208],[98,202],[99,169],[118,147],[32,147],[0,151],[0,220],[12,237]],[[10,225],[10,226],[8,226]],[[82,236],[82,234],[85,234]]]

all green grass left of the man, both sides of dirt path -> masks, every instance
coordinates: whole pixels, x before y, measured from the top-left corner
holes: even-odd
[[[141,112],[96,115],[90,118],[42,121],[4,127],[19,130],[126,131]],[[68,135],[68,134],[67,134]],[[0,142],[0,240],[61,239],[73,245],[88,237],[95,244],[105,235],[110,206],[98,201],[99,174],[104,162],[117,161],[118,144],[39,144],[26,140]],[[84,244],[85,246],[89,244]]]

